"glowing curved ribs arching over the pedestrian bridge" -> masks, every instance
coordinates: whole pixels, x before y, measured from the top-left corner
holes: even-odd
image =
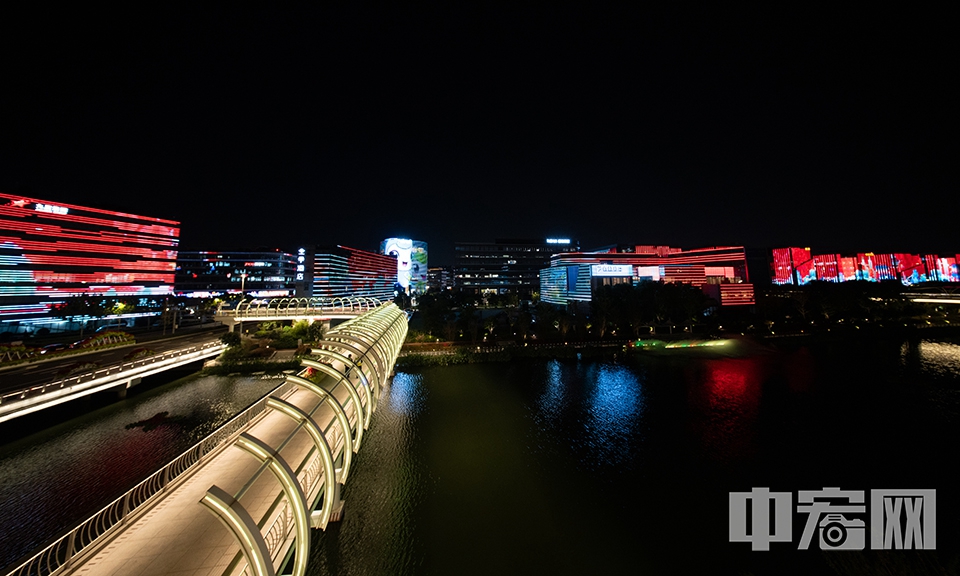
[[[291,310],[309,309],[313,304],[310,300],[313,299],[281,298],[253,310],[289,314]],[[315,383],[308,379],[306,370],[297,376],[287,376],[288,383],[303,389],[304,396],[311,397],[312,401],[291,393],[288,399],[268,398],[267,406],[292,419],[296,428],[286,438],[274,438],[273,443],[264,441],[267,436],[258,437],[247,431],[240,434],[234,442],[260,460],[260,471],[238,492],[230,494],[214,484],[201,500],[201,504],[233,535],[240,547],[240,555],[247,562],[248,573],[275,576],[279,567],[276,562],[285,557],[288,549],[285,547],[294,547],[292,574],[304,576],[310,557],[310,527],[326,529],[333,509],[342,506],[339,485],[347,480],[351,453],[360,448],[363,431],[377,406],[377,396],[392,373],[400,343],[407,334],[407,317],[392,302],[380,304],[372,298],[338,300],[336,306],[359,307],[363,312],[331,328],[323,345],[311,351],[312,358],[300,361],[303,368],[312,368],[331,378]],[[338,389],[347,392],[346,402],[342,405],[336,398]],[[343,398],[344,395],[340,396]],[[325,413],[325,420],[316,420],[315,415],[321,413],[318,411],[321,406],[330,408],[330,411]],[[281,454],[281,451],[300,429],[310,437],[313,449],[305,456],[290,452],[289,455],[296,459],[288,462],[288,454]],[[331,438],[328,436],[330,430],[339,432]],[[336,441],[337,436],[343,439],[342,443]],[[339,469],[336,467],[338,462],[341,463]],[[307,476],[299,473],[314,468],[322,470],[322,474]],[[266,525],[254,521],[247,502],[243,500],[247,487],[252,486],[264,470],[274,474],[283,496],[275,500],[279,503],[277,506],[283,507],[277,517],[291,519],[285,523],[274,522],[266,534],[261,530]],[[316,510],[321,501],[322,507]],[[255,507],[256,502],[251,505]]]

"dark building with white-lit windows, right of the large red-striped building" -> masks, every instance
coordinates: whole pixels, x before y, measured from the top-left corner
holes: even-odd
[[[176,293],[206,298],[239,294],[276,298],[294,294],[297,258],[271,252],[180,252]]]

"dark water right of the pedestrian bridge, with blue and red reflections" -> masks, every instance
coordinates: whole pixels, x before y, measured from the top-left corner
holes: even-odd
[[[728,354],[398,374],[310,573],[958,573],[956,342]],[[754,487],[935,489],[937,550],[798,550],[794,513],[752,551],[728,501]]]

